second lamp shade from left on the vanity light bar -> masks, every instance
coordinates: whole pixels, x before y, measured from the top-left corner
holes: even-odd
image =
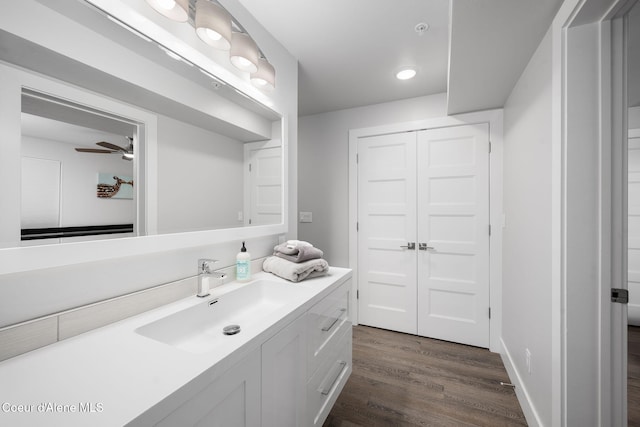
[[[200,40],[216,49],[231,48],[231,15],[223,7],[208,0],[198,0],[195,18]]]

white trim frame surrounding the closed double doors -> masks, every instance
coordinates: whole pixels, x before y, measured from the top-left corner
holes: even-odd
[[[455,116],[428,118],[411,122],[392,123],[380,126],[349,130],[349,267],[353,269],[353,292],[351,306],[353,322],[358,324],[358,139],[369,136],[411,132],[443,127],[489,124],[489,302],[491,319],[489,326],[489,350],[502,351],[500,333],[502,330],[502,152],[503,152],[503,112],[502,109]]]

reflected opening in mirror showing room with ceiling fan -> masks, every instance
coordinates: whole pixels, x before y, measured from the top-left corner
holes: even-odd
[[[22,245],[134,235],[137,126],[27,89],[21,101]],[[99,195],[100,174],[114,182]]]

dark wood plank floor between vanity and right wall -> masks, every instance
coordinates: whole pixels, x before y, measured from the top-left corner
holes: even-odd
[[[325,427],[527,425],[500,356],[367,326]]]

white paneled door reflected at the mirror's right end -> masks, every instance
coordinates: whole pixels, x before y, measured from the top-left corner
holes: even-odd
[[[280,141],[245,144],[247,187],[245,225],[282,222],[282,148]]]

